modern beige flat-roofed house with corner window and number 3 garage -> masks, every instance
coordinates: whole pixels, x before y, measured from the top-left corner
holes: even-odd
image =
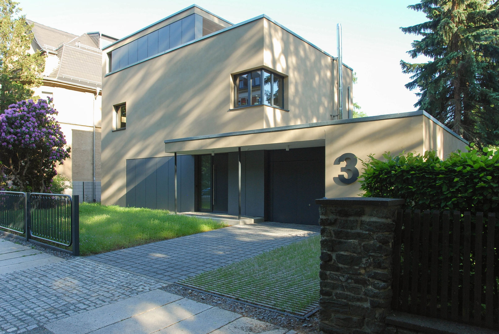
[[[317,224],[360,192],[355,157],[466,144],[425,112],[347,119],[344,64],[339,119],[337,58],[265,15],[192,5],[103,52],[103,204]]]

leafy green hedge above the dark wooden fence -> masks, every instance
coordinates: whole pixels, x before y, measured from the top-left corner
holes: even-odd
[[[414,209],[499,211],[499,148],[470,147],[445,160],[434,151],[423,156],[388,152],[384,160],[370,155],[362,161],[361,189],[366,197],[404,198]]]

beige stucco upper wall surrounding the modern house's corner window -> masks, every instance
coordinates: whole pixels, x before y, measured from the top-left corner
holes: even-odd
[[[268,34],[270,26],[276,36]],[[318,79],[331,72],[331,59],[291,36],[260,18],[108,75],[104,54],[102,203],[125,205],[126,160],[167,156],[166,139],[330,120],[332,102],[315,96],[332,90],[330,80],[321,86]],[[265,60],[266,52],[274,56]],[[313,59],[307,60],[307,52]],[[285,66],[283,57],[290,59]],[[289,112],[268,106],[232,109],[233,75],[262,67],[285,77]],[[302,88],[307,80],[316,89]],[[126,129],[112,131],[113,105],[124,102]]]

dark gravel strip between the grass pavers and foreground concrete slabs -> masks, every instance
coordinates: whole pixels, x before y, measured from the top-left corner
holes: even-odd
[[[226,298],[212,296],[210,294],[179,287],[178,285],[168,285],[161,290],[176,294],[196,302],[216,306],[227,311],[232,311],[266,323],[274,324],[287,330],[293,330],[300,334],[322,334],[319,332],[319,314],[316,312],[308,320],[300,320],[293,316],[283,315],[277,312],[256,308],[250,305],[239,303]]]

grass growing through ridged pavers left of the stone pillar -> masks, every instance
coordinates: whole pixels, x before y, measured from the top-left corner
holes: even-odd
[[[178,283],[300,313],[319,300],[319,257],[313,236]]]

